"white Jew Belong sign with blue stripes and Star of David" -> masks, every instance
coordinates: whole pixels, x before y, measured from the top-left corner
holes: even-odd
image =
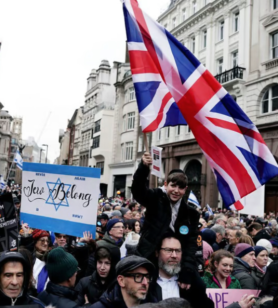
[[[31,228],[95,236],[100,169],[23,162],[20,220]]]

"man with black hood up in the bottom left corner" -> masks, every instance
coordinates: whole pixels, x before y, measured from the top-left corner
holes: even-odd
[[[30,266],[22,254],[14,251],[3,252],[0,256],[0,307],[18,305],[45,305],[28,295]]]

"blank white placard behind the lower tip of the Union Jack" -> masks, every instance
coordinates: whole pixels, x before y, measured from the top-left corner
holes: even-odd
[[[240,199],[240,202],[244,206],[240,213],[264,217],[265,185]]]

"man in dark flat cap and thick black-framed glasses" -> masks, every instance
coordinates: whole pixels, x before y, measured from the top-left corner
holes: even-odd
[[[149,293],[154,265],[145,258],[129,256],[116,265],[117,282],[90,308],[132,308],[143,303],[157,303]]]

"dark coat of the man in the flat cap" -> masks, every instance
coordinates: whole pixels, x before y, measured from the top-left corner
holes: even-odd
[[[145,303],[157,303],[157,300],[148,293],[146,299],[141,301],[140,304]],[[105,291],[99,299],[99,302],[93,304],[90,308],[127,308],[118,283],[115,283],[113,287]]]

